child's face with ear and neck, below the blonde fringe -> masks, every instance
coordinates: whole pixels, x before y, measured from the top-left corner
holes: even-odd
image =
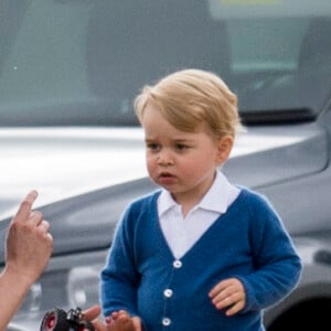
[[[232,138],[215,140],[203,125],[196,132],[173,127],[152,105],[141,120],[150,178],[178,203],[199,202],[211,186],[217,166],[228,157]]]

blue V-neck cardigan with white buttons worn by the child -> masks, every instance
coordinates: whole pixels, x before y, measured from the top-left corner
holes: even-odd
[[[175,260],[158,221],[159,194],[132,202],[118,224],[102,271],[104,314],[126,309],[142,319],[145,331],[265,330],[263,309],[284,299],[301,271],[270,203],[242,188],[227,212]],[[209,298],[228,277],[241,279],[246,290],[246,306],[233,317]]]

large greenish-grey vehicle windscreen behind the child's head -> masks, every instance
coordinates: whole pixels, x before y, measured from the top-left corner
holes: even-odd
[[[142,85],[185,67],[220,74],[243,116],[317,115],[330,97],[329,2],[257,2],[1,1],[0,126],[135,126]]]

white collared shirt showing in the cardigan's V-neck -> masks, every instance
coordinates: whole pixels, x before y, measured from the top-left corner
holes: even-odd
[[[224,214],[238,196],[241,190],[228,182],[217,171],[214,183],[196,204],[183,217],[181,205],[163,190],[158,199],[158,213],[163,235],[175,258],[181,258],[203,235],[203,233]]]

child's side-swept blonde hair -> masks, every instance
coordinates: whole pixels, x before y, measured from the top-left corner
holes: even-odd
[[[135,99],[142,120],[147,105],[153,105],[177,129],[195,131],[202,124],[220,138],[236,135],[239,125],[237,97],[221,77],[202,70],[183,70],[146,85]]]

